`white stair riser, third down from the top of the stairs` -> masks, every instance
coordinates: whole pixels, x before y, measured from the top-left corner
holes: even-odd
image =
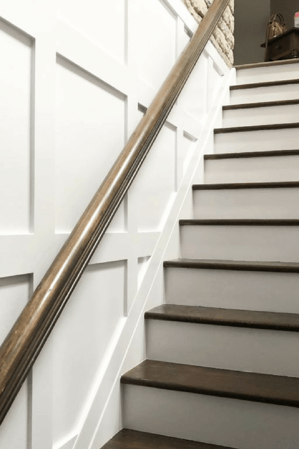
[[[223,111],[222,126],[273,125],[299,122],[299,104]]]

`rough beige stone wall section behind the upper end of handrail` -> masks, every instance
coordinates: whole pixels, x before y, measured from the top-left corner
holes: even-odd
[[[200,23],[213,0],[183,0],[195,20]],[[212,42],[226,64],[234,62],[234,0],[230,0],[212,36]]]

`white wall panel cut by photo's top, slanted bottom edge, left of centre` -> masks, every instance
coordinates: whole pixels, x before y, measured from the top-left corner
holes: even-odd
[[[60,0],[62,20],[124,63],[126,54],[126,0]]]

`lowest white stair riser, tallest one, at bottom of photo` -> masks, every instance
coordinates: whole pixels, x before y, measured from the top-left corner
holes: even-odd
[[[299,409],[124,386],[124,427],[239,449],[298,449]]]

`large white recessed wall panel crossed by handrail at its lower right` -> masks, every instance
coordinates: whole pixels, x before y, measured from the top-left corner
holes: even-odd
[[[70,232],[125,144],[126,98],[57,58],[55,230]],[[110,231],[126,230],[121,206]]]

